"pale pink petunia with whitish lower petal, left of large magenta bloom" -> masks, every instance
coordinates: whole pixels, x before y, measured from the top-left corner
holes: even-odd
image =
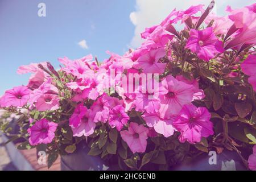
[[[174,131],[176,131],[172,125],[174,117],[171,117],[170,119],[164,119],[160,117],[159,112],[155,112],[151,114],[144,113],[142,118],[145,120],[147,126],[154,127],[156,133],[163,134],[166,138],[173,135]]]

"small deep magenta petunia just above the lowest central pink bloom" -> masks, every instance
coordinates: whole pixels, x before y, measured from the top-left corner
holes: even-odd
[[[125,113],[125,107],[117,105],[109,112],[109,125],[112,128],[116,128],[117,131],[121,131],[123,125],[126,125],[130,119],[129,115]]]

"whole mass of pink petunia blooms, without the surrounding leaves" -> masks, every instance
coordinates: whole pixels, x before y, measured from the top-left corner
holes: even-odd
[[[28,85],[7,90],[0,99],[0,106],[54,113],[68,100],[76,104],[68,119],[73,137],[88,137],[98,123],[106,123],[119,131],[133,153],[146,151],[148,137],[163,135],[167,138],[175,132],[179,133],[180,142],[200,142],[202,137],[213,135],[213,123],[206,107],[194,105],[194,101],[205,97],[197,78],[168,72],[168,61],[172,61],[170,44],[176,43],[180,36],[174,26],[177,22],[185,24],[188,39],[184,40],[184,50],[208,62],[228,48],[239,50],[244,44],[256,44],[256,11],[254,4],[230,10],[229,16],[221,18],[209,15],[204,23],[212,19],[214,23],[203,30],[192,26],[200,22],[200,16],[196,16],[199,12],[204,12],[202,5],[185,11],[175,9],[160,24],[146,28],[141,34],[145,39],[141,47],[130,49],[123,56],[107,52],[110,57],[101,64],[88,55],[76,60],[59,58],[63,65],[58,72],[49,63],[23,65],[18,73],[32,73]],[[222,36],[228,39],[226,43],[221,40]],[[251,55],[241,65],[242,71],[250,76],[254,90],[255,59],[256,56]],[[120,74],[113,77],[113,72]],[[151,75],[146,82],[134,82],[122,74]],[[161,77],[156,80],[152,74]],[[152,91],[148,85],[156,85],[157,89]],[[132,88],[132,92],[127,92],[127,88]],[[68,114],[69,111],[65,111],[64,114]],[[130,113],[134,112],[142,121],[131,121]],[[47,119],[31,125],[28,129],[31,145],[51,143],[58,127]]]

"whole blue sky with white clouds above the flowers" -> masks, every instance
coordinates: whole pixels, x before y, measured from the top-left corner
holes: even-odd
[[[225,15],[255,0],[215,0],[214,13]],[[38,16],[38,4],[46,4],[46,17]],[[58,57],[79,59],[89,53],[99,60],[105,51],[122,55],[138,47],[140,33],[164,19],[175,7],[208,6],[210,0],[0,0],[0,96],[13,86],[26,85],[30,75],[18,75],[20,65]],[[86,41],[79,46],[79,42]]]

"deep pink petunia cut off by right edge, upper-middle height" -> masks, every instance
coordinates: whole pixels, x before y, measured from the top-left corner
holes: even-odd
[[[241,64],[241,69],[243,73],[250,76],[248,82],[253,86],[253,90],[256,92],[256,55],[249,55]]]

